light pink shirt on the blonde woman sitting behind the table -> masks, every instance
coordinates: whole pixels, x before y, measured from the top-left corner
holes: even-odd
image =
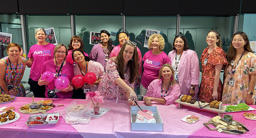
[[[161,83],[162,81],[159,79],[153,80],[149,86],[147,94],[144,97],[155,97],[161,98]],[[163,94],[165,91],[163,91]],[[166,101],[165,105],[174,104],[174,102],[180,97],[180,86],[178,84],[174,84],[172,88],[169,88],[167,91],[167,95],[164,97]]]

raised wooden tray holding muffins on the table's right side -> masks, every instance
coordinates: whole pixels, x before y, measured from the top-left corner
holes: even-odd
[[[180,97],[182,97],[182,96],[180,96]],[[180,109],[183,105],[193,106],[193,107],[196,107],[196,108],[200,108],[200,106],[199,106],[199,104],[198,104],[198,101],[196,101],[194,104],[190,104],[190,103],[187,103],[187,102],[182,102],[182,101],[181,101],[181,98],[178,98],[178,99],[175,101],[175,103],[178,103],[178,104],[179,104],[179,106],[178,106],[179,109]],[[201,103],[201,101],[199,101],[199,103],[200,103],[201,106],[205,106],[205,105],[209,104],[209,103]],[[227,107],[226,107],[226,106],[222,106],[222,104],[220,104],[219,109],[210,108],[209,105],[206,106],[206,107],[204,107],[203,109],[210,110],[210,111],[215,111],[215,112],[218,113],[219,116],[222,116],[222,113],[225,112],[225,110],[227,109]]]

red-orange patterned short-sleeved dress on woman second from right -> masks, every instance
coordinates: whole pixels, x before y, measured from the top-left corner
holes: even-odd
[[[213,92],[213,86],[214,86],[214,78],[215,78],[215,65],[223,64],[227,65],[228,62],[226,60],[226,54],[223,51],[222,48],[216,47],[210,54],[208,54],[208,49],[204,49],[203,54],[200,58],[200,61],[202,62],[202,80],[199,88],[199,100],[205,100],[205,102],[210,103],[213,101],[212,99],[212,92]],[[204,60],[208,58],[207,64],[204,65]],[[222,82],[219,81],[218,89],[217,89],[217,95],[218,100],[221,101],[222,97]]]

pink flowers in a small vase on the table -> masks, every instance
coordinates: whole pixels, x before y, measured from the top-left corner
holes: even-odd
[[[96,114],[96,115],[99,114],[100,103],[104,103],[103,98],[104,97],[100,96],[100,92],[98,92],[98,91],[95,91],[95,92],[89,91],[86,93],[86,100],[92,101],[94,114]]]

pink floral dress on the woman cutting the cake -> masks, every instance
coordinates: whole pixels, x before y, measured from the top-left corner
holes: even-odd
[[[117,71],[117,65],[114,60],[116,60],[116,57],[112,57],[107,61],[106,73],[100,81],[98,91],[101,93],[104,99],[116,99],[116,102],[118,101],[118,99],[128,100],[126,96],[126,91],[114,82],[117,78],[120,78]],[[129,83],[128,81],[130,78],[129,67],[127,68],[127,73],[124,78],[124,82],[128,86],[134,88],[134,83]]]

